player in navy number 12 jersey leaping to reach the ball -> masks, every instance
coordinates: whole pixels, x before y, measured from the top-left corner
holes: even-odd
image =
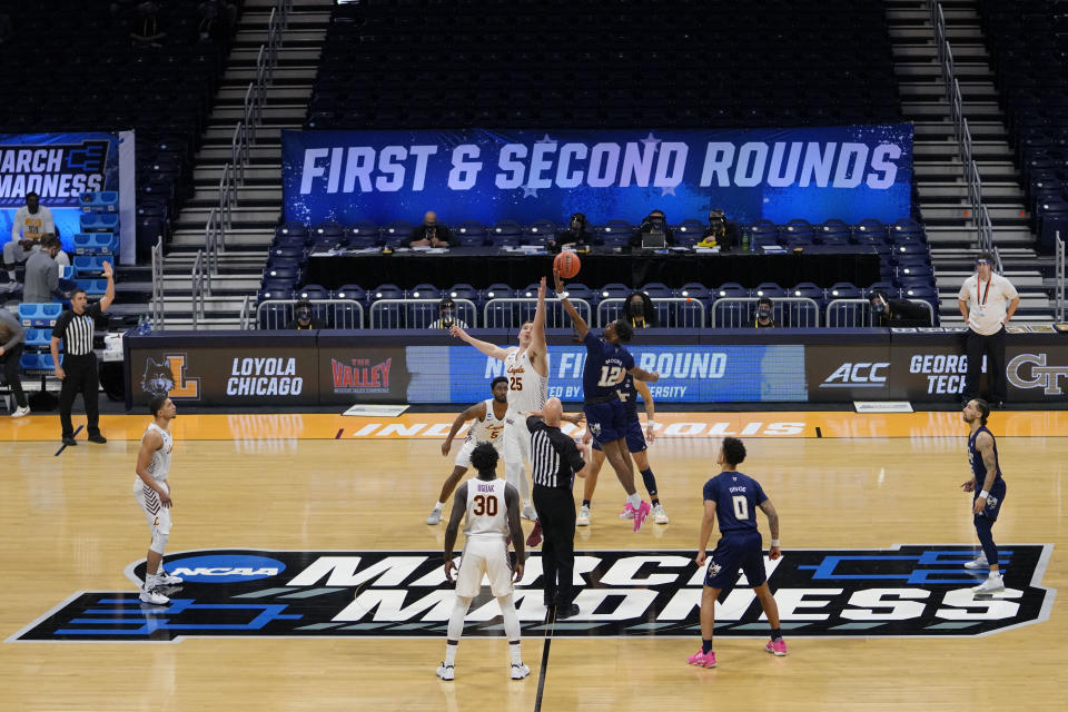
[[[582,368],[583,412],[586,414],[586,427],[593,433],[594,441],[604,451],[615,469],[615,476],[626,491],[626,502],[633,510],[634,531],[642,528],[645,517],[652,511],[649,502],[637,496],[634,487],[634,467],[626,455],[626,411],[615,392],[626,374],[639,380],[655,383],[659,374],[649,373],[634,365],[634,357],[623,346],[631,340],[634,329],[624,319],[616,319],[602,330],[599,338],[590,330],[578,315],[575,305],[567,298],[560,273],[553,270],[556,296],[560,297],[567,315],[575,326],[575,333],[586,345],[586,362]]]

